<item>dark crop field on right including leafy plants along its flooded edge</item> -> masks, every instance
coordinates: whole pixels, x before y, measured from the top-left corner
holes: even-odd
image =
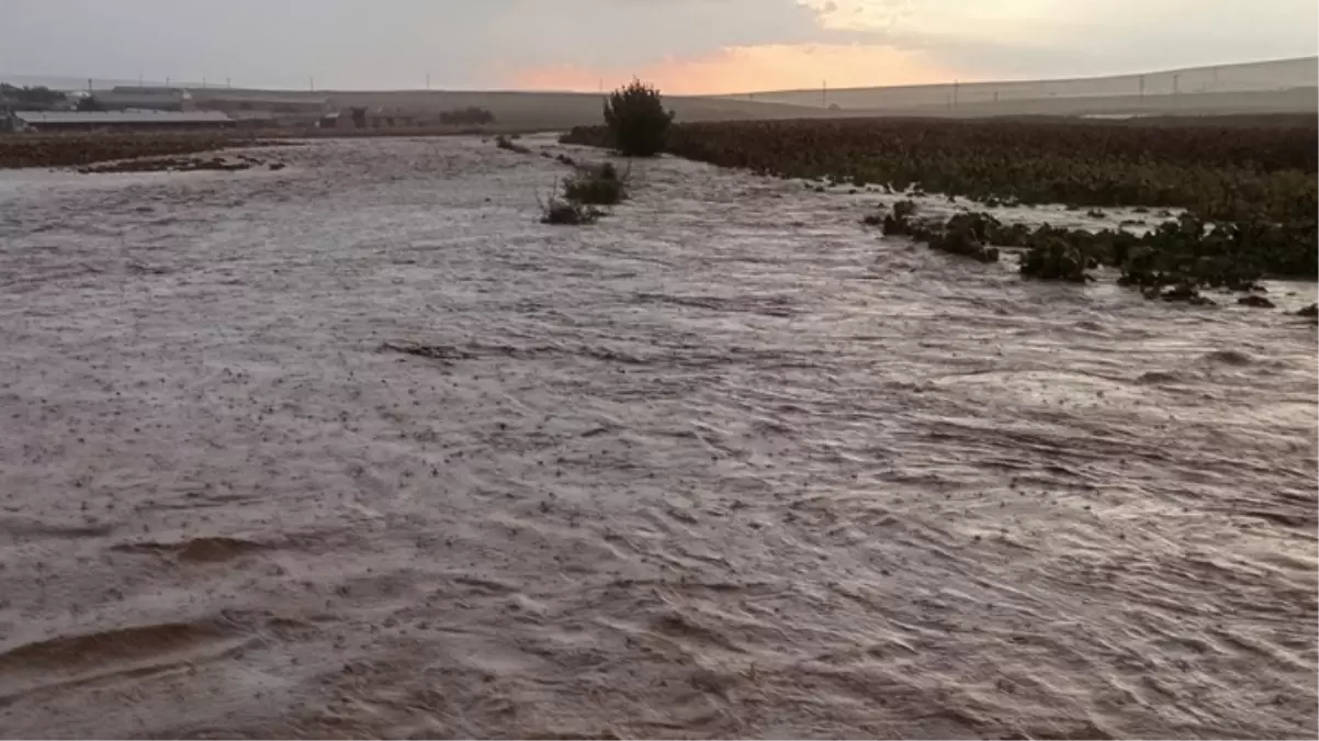
[[[605,145],[601,128],[565,141]],[[1319,278],[1319,125],[1295,117],[1079,120],[798,120],[681,124],[673,154],[807,187],[940,193],[985,207],[1060,203],[1092,219],[1134,207],[1146,228],[1068,229],[1004,224],[984,212],[931,219],[902,200],[864,222],[934,249],[997,262],[1021,253],[1021,274],[1084,283],[1109,268],[1149,298],[1212,303],[1204,289],[1254,291],[1258,281]],[[824,193],[823,185],[815,190]],[[1174,216],[1169,208],[1183,211]],[[1128,231],[1134,227],[1136,231]],[[1262,297],[1244,306],[1266,307]]]

